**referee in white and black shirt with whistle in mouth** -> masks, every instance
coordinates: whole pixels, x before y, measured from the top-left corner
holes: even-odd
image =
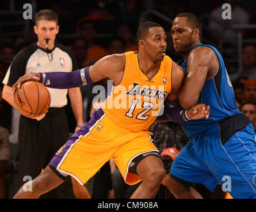
[[[34,32],[38,42],[21,50],[11,62],[5,79],[3,79],[3,98],[13,107],[11,95],[13,84],[29,72],[72,72],[78,65],[69,48],[55,44],[58,34],[58,16],[49,9],[35,15]],[[82,95],[79,87],[71,89],[50,89],[50,108],[48,113],[31,119],[21,115],[19,123],[19,187],[25,184],[28,177],[36,178],[46,168],[56,151],[66,142],[69,136],[68,120],[64,110],[67,105],[67,93],[70,105],[76,118],[77,127],[84,124],[82,116]],[[71,180],[53,191],[42,195],[42,198],[73,198]]]

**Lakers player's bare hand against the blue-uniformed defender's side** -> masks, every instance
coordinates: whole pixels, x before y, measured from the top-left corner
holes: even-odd
[[[186,111],[188,119],[202,119],[209,118],[210,115],[210,106],[205,104],[198,104]]]

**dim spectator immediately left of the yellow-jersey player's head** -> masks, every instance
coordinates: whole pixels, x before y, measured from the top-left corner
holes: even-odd
[[[135,33],[129,24],[121,23],[117,27],[117,36],[123,38],[125,41],[125,52],[138,51],[138,46],[134,41]]]

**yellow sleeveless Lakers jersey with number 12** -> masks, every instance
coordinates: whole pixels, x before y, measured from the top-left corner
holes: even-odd
[[[164,56],[157,74],[149,80],[139,68],[137,52],[125,52],[123,78],[102,105],[106,117],[131,132],[148,130],[171,91],[171,72],[172,60]]]

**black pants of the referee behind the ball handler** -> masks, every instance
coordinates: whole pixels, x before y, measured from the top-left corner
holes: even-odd
[[[46,168],[69,136],[64,107],[49,108],[41,121],[21,115],[19,123],[19,187]],[[71,180],[66,180],[41,198],[74,198]]]

